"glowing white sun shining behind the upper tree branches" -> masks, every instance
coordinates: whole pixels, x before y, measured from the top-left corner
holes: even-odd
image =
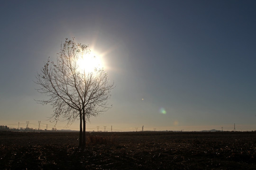
[[[101,56],[94,51],[81,55],[77,60],[80,71],[93,72],[95,69],[103,68]]]

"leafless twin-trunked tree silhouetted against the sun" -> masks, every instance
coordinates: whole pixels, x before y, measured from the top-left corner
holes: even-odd
[[[48,58],[41,72],[36,76],[37,91],[48,96],[41,104],[51,104],[52,118],[67,120],[67,125],[80,119],[79,145],[85,146],[86,121],[110,108],[108,99],[114,84],[109,84],[107,73],[95,68],[81,69],[79,59],[90,53],[87,45],[66,39],[57,53],[56,63]]]

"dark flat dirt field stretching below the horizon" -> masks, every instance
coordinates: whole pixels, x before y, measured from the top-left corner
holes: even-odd
[[[256,170],[256,132],[0,132],[1,170]]]

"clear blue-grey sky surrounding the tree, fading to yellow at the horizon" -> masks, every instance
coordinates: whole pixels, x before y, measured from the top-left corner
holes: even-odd
[[[0,125],[54,125],[33,81],[75,37],[101,55],[116,85],[113,107],[87,130],[256,130],[255,0],[0,3]]]

